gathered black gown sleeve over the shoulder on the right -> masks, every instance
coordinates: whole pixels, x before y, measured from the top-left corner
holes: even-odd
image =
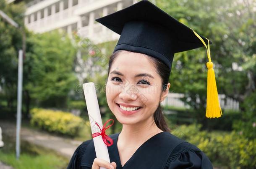
[[[213,169],[209,158],[198,147],[183,142],[172,150],[165,169]]]

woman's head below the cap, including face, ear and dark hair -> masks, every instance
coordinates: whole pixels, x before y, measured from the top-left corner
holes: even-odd
[[[108,75],[107,103],[121,124],[155,123],[155,128],[170,131],[160,106],[170,88],[170,71],[164,63],[142,53],[118,50],[110,57]]]

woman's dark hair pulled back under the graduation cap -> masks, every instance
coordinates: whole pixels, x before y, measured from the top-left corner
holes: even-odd
[[[113,62],[115,61],[115,58],[118,56],[118,53],[120,53],[122,51],[126,51],[126,50],[117,50],[112,55],[110,55],[110,60],[108,62],[108,73],[107,73],[108,76],[109,76],[109,73],[110,73],[111,66],[112,66]],[[127,51],[127,52],[129,52],[129,51]],[[169,81],[169,76],[170,76],[170,69],[164,63],[159,61],[159,59],[154,58],[150,55],[146,55],[146,56],[149,56],[149,60],[152,63],[154,63],[155,70],[159,74],[159,76],[161,77],[162,92],[166,91],[167,90],[167,83]],[[169,129],[169,127],[168,127],[168,125],[165,121],[165,116],[163,115],[163,110],[162,110],[162,106],[160,105],[160,103],[159,103],[156,111],[154,112],[154,122],[156,123],[157,127],[159,129],[161,129],[162,131],[170,132],[170,129]]]

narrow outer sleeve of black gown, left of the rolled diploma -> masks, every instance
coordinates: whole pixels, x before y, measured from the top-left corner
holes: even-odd
[[[84,141],[80,146],[76,148],[71,160],[69,161],[67,169],[81,169],[81,160],[86,151],[87,146],[92,140]]]

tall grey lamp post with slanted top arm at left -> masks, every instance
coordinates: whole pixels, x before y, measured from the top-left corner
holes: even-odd
[[[23,59],[26,51],[26,35],[21,26],[0,10],[0,17],[2,17],[10,25],[18,28],[22,33],[22,50],[18,51],[18,91],[17,91],[17,119],[16,119],[16,158],[20,157],[20,131],[21,131],[21,107],[22,107],[22,81],[23,81]]]

